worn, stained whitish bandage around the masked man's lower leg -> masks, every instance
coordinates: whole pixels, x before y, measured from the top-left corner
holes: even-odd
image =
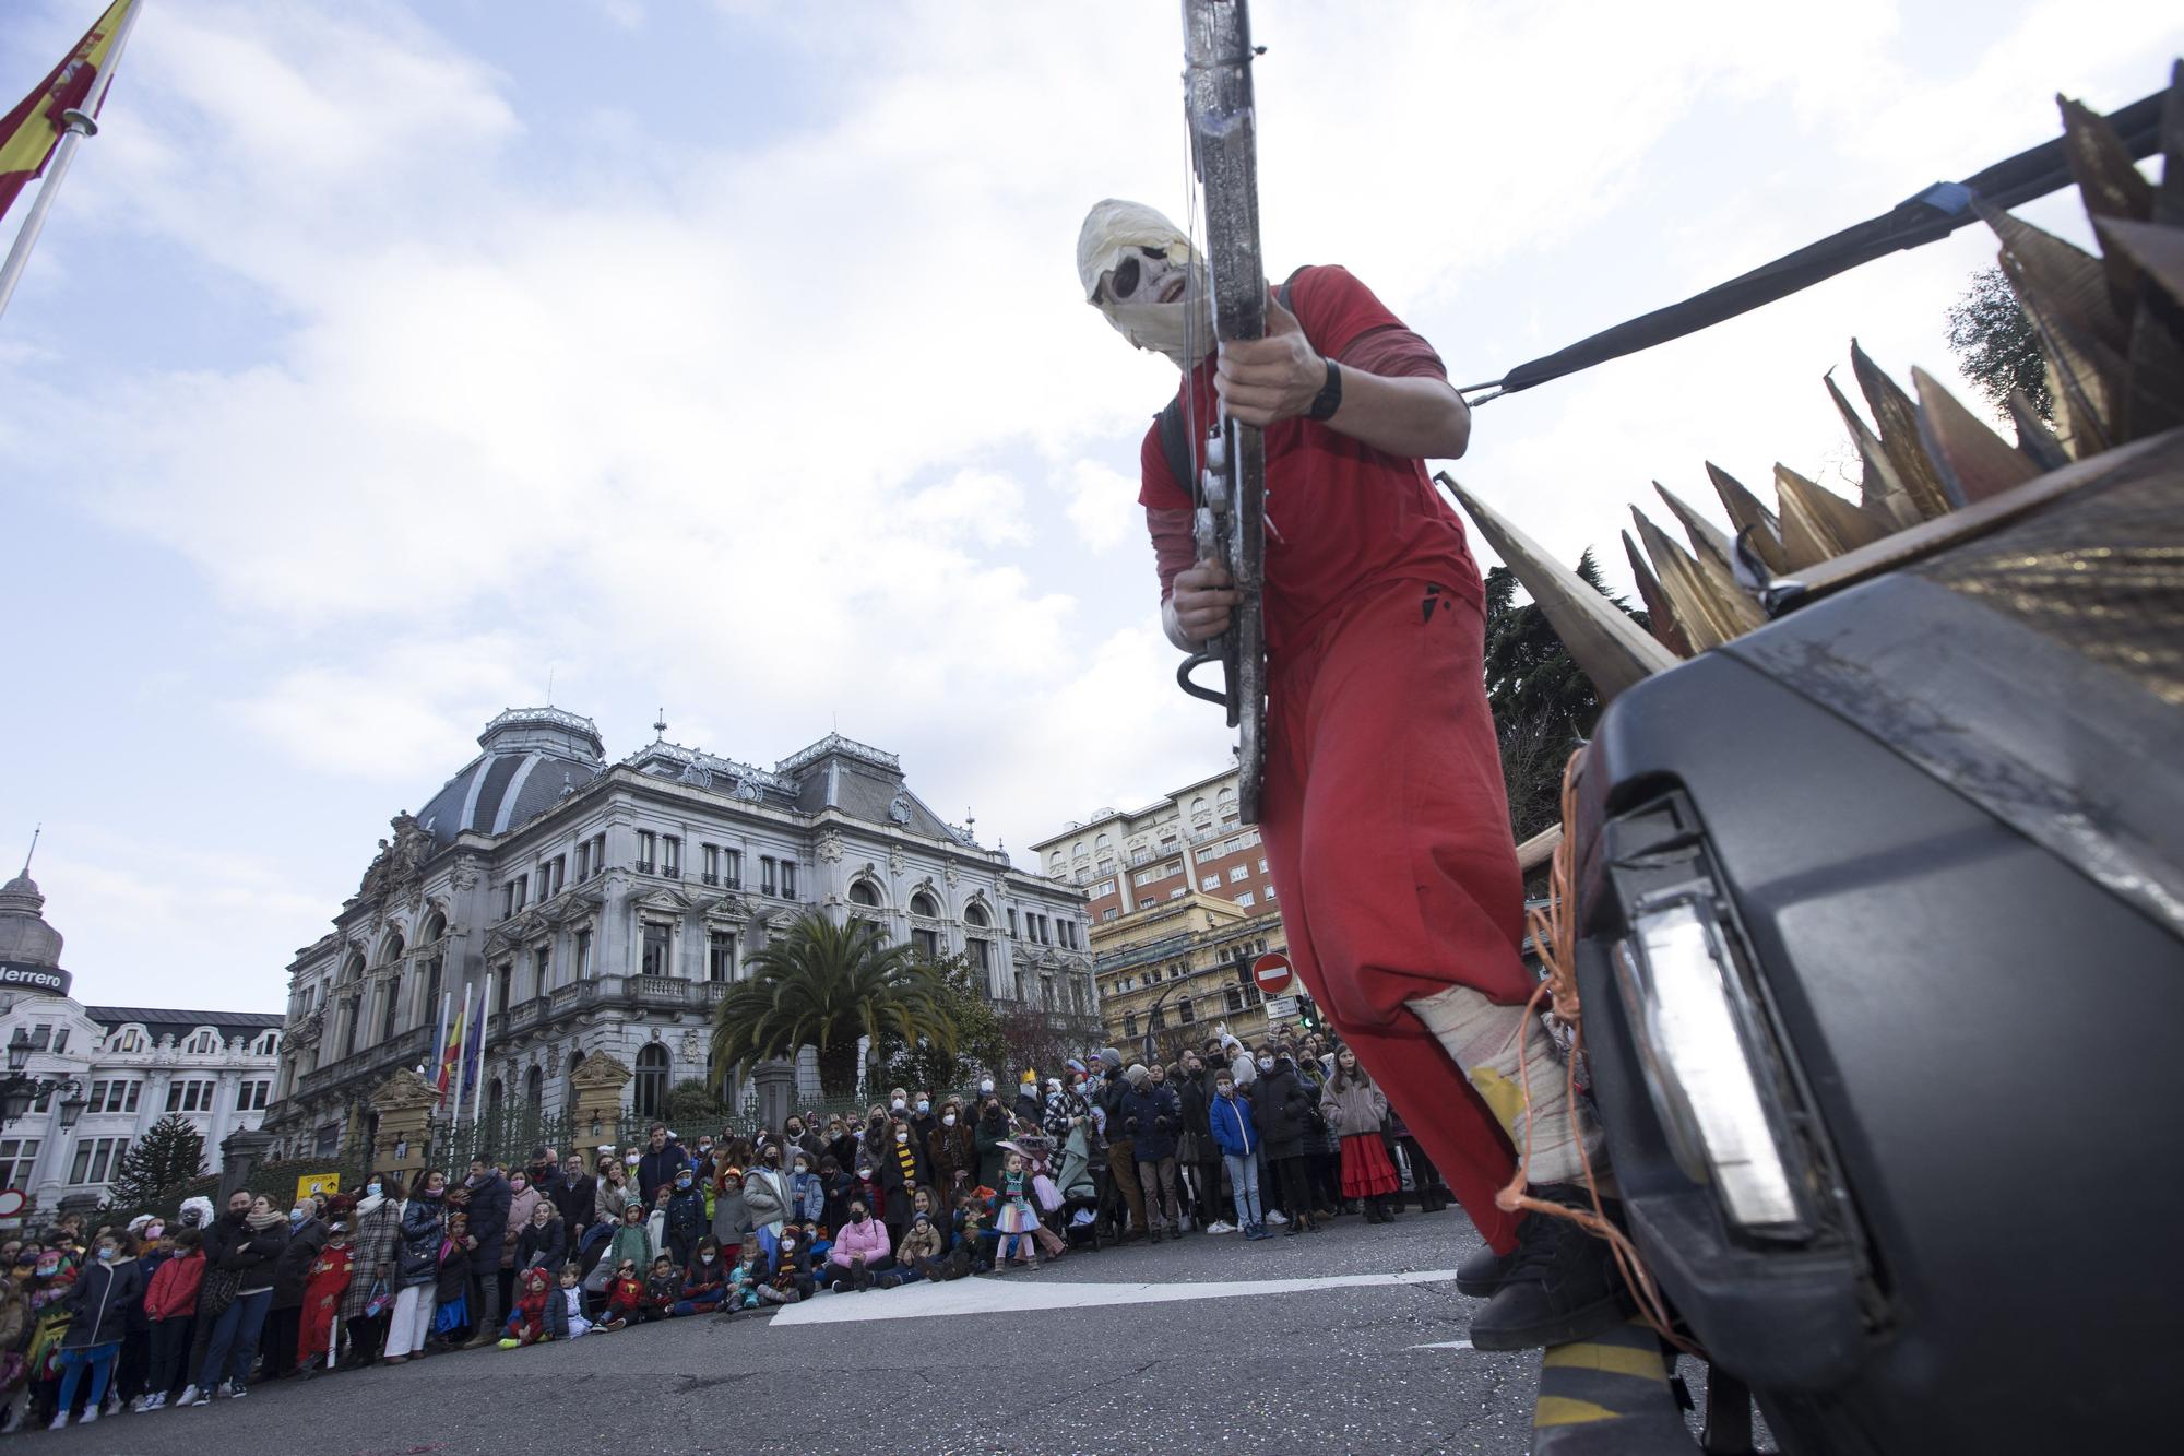
[[[1516,1150],[1524,1152],[1524,1089],[1531,1091],[1531,1183],[1579,1183],[1583,1156],[1607,1167],[1601,1128],[1572,1104],[1566,1067],[1546,1028],[1522,1006],[1496,1006],[1470,986],[1406,1003],[1463,1069]],[[1520,1041],[1522,1038],[1522,1041]],[[1583,1154],[1577,1139],[1583,1137]]]

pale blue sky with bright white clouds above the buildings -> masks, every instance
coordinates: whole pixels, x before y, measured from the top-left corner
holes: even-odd
[[[13,0],[0,92],[96,9]],[[2184,50],[2129,0],[1254,15],[1271,269],[1345,262],[1463,383]],[[0,319],[0,848],[46,824],[79,995],[280,1006],[387,818],[548,673],[612,756],[662,706],[762,763],[839,726],[1026,866],[1212,772],[1133,505],[1173,374],[1072,271],[1090,201],[1182,206],[1177,50],[1173,0],[146,0]],[[1859,334],[1952,378],[1990,258],[1489,404],[1459,474],[1616,571],[1653,479],[1841,481],[1819,376]]]

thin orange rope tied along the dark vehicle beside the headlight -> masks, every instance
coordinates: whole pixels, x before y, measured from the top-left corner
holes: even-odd
[[[1583,1006],[1577,997],[1577,896],[1572,894],[1572,859],[1577,850],[1577,835],[1570,831],[1577,818],[1577,774],[1586,750],[1579,748],[1570,754],[1570,761],[1562,770],[1562,844],[1555,846],[1555,859],[1546,872],[1546,909],[1527,909],[1524,918],[1531,929],[1533,947],[1540,951],[1540,962],[1546,966],[1546,979],[1540,988],[1531,993],[1524,1001],[1524,1021],[1518,1023],[1518,1087],[1524,1093],[1524,1148],[1518,1156],[1516,1172],[1509,1176],[1509,1187],[1494,1196],[1496,1207],[1505,1213],[1542,1213],[1548,1218],[1566,1218],[1579,1229],[1607,1240],[1610,1253],[1616,1257],[1616,1268],[1623,1272],[1623,1281],[1638,1294],[1638,1312],[1645,1323],[1660,1334],[1662,1340],[1684,1351],[1686,1355],[1706,1358],[1690,1340],[1682,1338],[1671,1329],[1669,1305],[1660,1296],[1660,1288],[1653,1283],[1651,1270],[1645,1266],[1638,1246],[1631,1244],[1629,1235],[1614,1226],[1607,1218],[1607,1209],[1601,1205],[1601,1185],[1592,1174],[1592,1154],[1586,1150],[1583,1135],[1572,1126],[1577,1135],[1577,1159],[1586,1170],[1586,1191],[1592,1196],[1592,1211],[1572,1209],[1546,1198],[1533,1198],[1524,1189],[1531,1185],[1531,1038],[1524,1036],[1524,1023],[1529,1023],[1538,1010],[1540,999],[1546,997],[1555,1008],[1555,1014],[1570,1028],[1570,1058],[1564,1067],[1564,1095],[1570,1106],[1570,1119],[1577,1122],[1577,1058],[1586,1052],[1586,1021]]]

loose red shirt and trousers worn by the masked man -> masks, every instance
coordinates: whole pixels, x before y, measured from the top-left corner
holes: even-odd
[[[1339,267],[1291,284],[1321,354],[1367,374],[1446,378],[1424,339]],[[1214,361],[1188,378],[1216,418]],[[1203,439],[1197,442],[1203,448]],[[1140,503],[1162,599],[1186,568],[1190,494],[1147,431]],[[1520,1003],[1524,888],[1483,669],[1483,590],[1463,525],[1424,461],[1326,424],[1267,431],[1267,848],[1289,955],[1494,1248],[1509,1139],[1406,1001],[1470,986]]]

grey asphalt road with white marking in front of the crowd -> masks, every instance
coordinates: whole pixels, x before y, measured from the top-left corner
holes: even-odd
[[[1448,1347],[1465,1338],[1474,1301],[1446,1272],[1476,1246],[1457,1209],[1389,1226],[1343,1218],[1260,1244],[1188,1235],[1075,1253],[1037,1275],[821,1294],[771,1318],[673,1320],[282,1382],[9,1445],[55,1456],[1518,1456],[1531,1447],[1538,1355]]]

